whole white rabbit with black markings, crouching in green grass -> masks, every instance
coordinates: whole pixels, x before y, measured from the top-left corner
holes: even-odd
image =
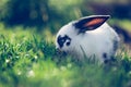
[[[56,48],[79,60],[95,57],[106,63],[115,55],[120,40],[106,23],[108,18],[109,15],[92,15],[70,22],[58,32]]]

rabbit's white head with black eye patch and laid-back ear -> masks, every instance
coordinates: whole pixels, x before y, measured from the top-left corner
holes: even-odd
[[[87,30],[97,29],[108,18],[109,15],[92,15],[70,22],[58,32],[56,48],[64,52],[75,50],[78,44],[83,40],[80,36],[84,35]]]

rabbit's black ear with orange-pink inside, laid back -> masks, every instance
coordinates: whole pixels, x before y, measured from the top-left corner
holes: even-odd
[[[86,30],[93,30],[103,25],[109,15],[92,15],[86,16],[74,23],[74,26],[80,29],[80,33],[85,33]]]

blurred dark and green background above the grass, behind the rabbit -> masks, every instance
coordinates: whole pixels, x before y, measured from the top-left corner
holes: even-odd
[[[111,15],[108,23],[122,41],[131,44],[131,0],[1,0],[0,23],[5,27],[23,26],[55,35],[70,21],[82,16]]]

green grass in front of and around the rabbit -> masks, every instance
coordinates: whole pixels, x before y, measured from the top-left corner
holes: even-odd
[[[46,32],[47,35],[49,32]],[[51,35],[0,25],[0,87],[130,87],[131,57],[79,65],[55,50]],[[48,40],[48,41],[47,41]]]

